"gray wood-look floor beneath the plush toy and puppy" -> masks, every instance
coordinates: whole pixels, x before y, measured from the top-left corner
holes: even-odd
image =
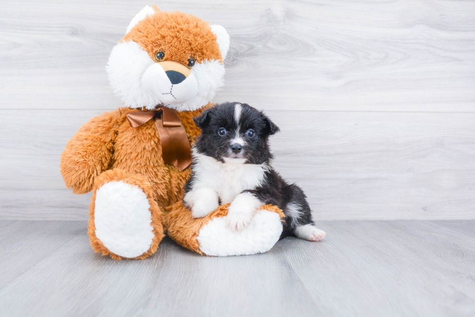
[[[326,221],[320,243],[202,257],[91,250],[82,221],[0,221],[1,316],[475,316],[475,221]]]

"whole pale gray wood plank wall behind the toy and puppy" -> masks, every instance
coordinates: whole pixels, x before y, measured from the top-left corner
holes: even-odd
[[[63,147],[121,105],[104,66],[146,1],[3,1],[0,218],[84,220]],[[475,219],[475,1],[161,1],[231,36],[216,101],[265,109],[317,219]]]

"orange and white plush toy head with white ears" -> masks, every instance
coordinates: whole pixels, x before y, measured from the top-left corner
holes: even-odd
[[[146,6],[112,49],[106,68],[125,106],[195,110],[223,86],[228,48],[222,26]]]

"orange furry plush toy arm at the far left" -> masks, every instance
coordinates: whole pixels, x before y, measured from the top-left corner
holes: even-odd
[[[120,111],[105,112],[79,128],[61,155],[61,174],[75,194],[90,192],[112,158]]]

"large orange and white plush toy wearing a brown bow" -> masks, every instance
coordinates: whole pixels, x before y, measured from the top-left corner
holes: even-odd
[[[200,134],[193,118],[222,88],[228,48],[222,26],[149,6],[113,47],[106,69],[124,107],[85,123],[61,156],[67,187],[77,194],[93,191],[88,234],[96,252],[145,258],[165,233],[207,255],[265,252],[278,240],[282,213],[274,206],[266,211],[276,229],[260,232],[256,246],[251,229],[222,233],[226,206],[192,219],[181,203],[190,145]]]

